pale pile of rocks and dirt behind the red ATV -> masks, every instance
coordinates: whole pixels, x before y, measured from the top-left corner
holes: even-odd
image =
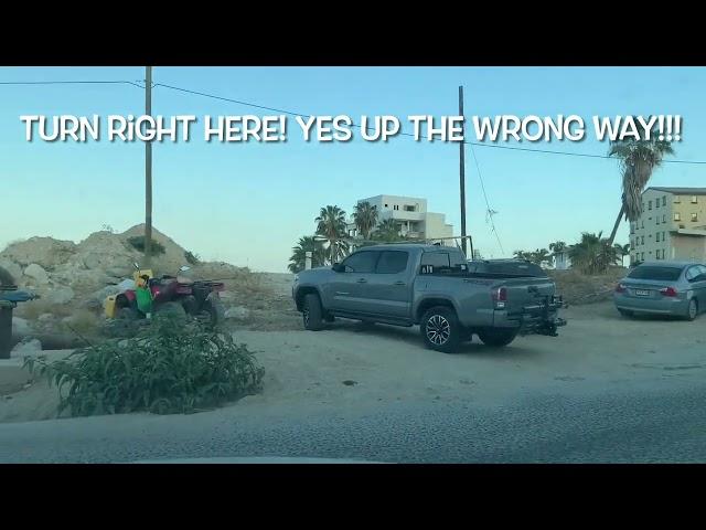
[[[36,337],[66,332],[64,324],[76,328],[83,322],[89,328],[92,319],[99,321],[106,297],[119,293],[120,284],[132,276],[133,263],[142,259],[142,252],[129,240],[143,233],[145,226],[136,225],[124,233],[95,232],[81,243],[31,237],[0,252],[0,267],[20,288],[40,295],[39,300],[21,304],[14,311],[13,336],[22,340],[17,348],[46,348],[38,344]],[[152,237],[164,248],[152,258],[156,275],[175,274],[188,265],[185,248],[154,229]],[[194,277],[204,279],[254,276],[247,268],[226,263],[196,263],[192,268]],[[236,286],[237,282],[228,282],[228,287]]]

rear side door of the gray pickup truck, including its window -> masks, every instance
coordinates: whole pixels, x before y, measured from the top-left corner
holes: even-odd
[[[366,290],[370,312],[411,317],[411,259],[408,251],[382,251]]]

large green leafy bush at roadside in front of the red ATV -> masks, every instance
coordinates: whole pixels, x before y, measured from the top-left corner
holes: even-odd
[[[57,385],[58,414],[68,410],[74,416],[197,412],[259,391],[265,373],[231,335],[159,315],[135,338],[53,362],[26,358],[24,364]]]

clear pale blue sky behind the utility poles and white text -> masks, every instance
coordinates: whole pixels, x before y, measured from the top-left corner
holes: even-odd
[[[142,115],[145,92],[128,84],[3,85],[19,81],[141,82],[135,67],[0,67],[0,248],[34,235],[81,241],[145,220],[142,142],[25,141],[21,115]],[[704,67],[154,67],[153,82],[304,115],[576,114],[683,117],[680,160],[706,160]],[[153,115],[277,113],[157,86]],[[289,118],[290,132],[296,126]],[[199,127],[194,128],[200,132]],[[405,126],[405,132],[411,127]],[[606,155],[608,142],[521,147]],[[474,138],[471,138],[474,140]],[[517,145],[511,141],[507,145]],[[478,161],[475,165],[474,158]],[[496,235],[488,222],[485,187]],[[706,166],[665,163],[651,186],[706,186]],[[466,147],[467,231],[484,257],[609,234],[620,208],[616,160]],[[291,247],[315,231],[321,206],[351,212],[377,194],[426,198],[460,233],[459,147],[398,136],[387,144],[153,144],[153,224],[205,259],[285,272]],[[622,223],[617,242],[628,242]],[[500,240],[500,241],[498,241]]]

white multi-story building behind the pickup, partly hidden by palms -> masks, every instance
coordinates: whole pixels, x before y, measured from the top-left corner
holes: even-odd
[[[452,237],[453,226],[447,224],[443,213],[427,211],[427,200],[416,197],[375,195],[357,201],[377,206],[377,222],[393,219],[399,234],[421,240]],[[349,235],[357,235],[353,220],[347,224]]]

